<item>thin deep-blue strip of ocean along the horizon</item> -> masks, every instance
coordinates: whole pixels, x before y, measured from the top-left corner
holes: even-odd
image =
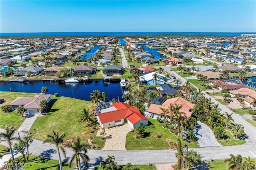
[[[122,35],[212,35],[241,36],[256,32],[19,32],[0,33],[0,36],[122,36]]]

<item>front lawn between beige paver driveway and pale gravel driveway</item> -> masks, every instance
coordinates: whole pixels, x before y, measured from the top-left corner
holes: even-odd
[[[177,137],[162,127],[163,123],[159,123],[155,119],[148,118],[155,128],[146,128],[147,137],[136,139],[136,132],[129,132],[126,136],[127,150],[156,150],[169,148],[168,140],[177,141]],[[161,138],[158,138],[158,132],[161,132]],[[196,148],[198,142],[189,143],[190,148]],[[184,142],[185,144],[185,142]]]

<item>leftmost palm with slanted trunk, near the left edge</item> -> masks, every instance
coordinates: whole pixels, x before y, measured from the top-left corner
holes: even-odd
[[[14,137],[14,133],[15,133],[16,129],[14,127],[5,127],[5,132],[1,132],[0,133],[0,137],[4,138],[4,140],[7,141],[9,149],[10,149],[10,153],[12,155],[12,159],[14,160],[14,156],[12,153],[12,140],[18,140],[17,137]]]

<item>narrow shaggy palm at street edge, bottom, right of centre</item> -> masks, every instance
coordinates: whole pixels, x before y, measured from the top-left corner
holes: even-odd
[[[181,167],[184,168],[184,162],[183,162],[184,150],[182,148],[181,140],[179,138],[177,138],[177,142],[170,142],[170,145],[177,149],[177,153],[175,154],[175,156],[177,158],[177,163],[175,164],[175,166],[173,168],[180,170]]]

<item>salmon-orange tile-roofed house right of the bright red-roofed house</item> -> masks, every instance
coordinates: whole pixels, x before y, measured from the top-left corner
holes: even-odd
[[[192,109],[192,107],[195,106],[193,103],[190,103],[189,101],[187,101],[186,99],[183,99],[182,97],[174,97],[171,99],[167,99],[161,105],[152,103],[148,107],[148,117],[153,118],[153,119],[160,117],[161,119],[164,119],[164,116],[161,115],[162,110],[160,108],[169,110],[170,104],[172,104],[173,106],[176,104],[178,106],[181,106],[179,112],[182,112],[181,116],[183,119],[191,117],[191,115],[192,115],[191,109]],[[170,121],[170,113],[168,113],[168,121]]]

